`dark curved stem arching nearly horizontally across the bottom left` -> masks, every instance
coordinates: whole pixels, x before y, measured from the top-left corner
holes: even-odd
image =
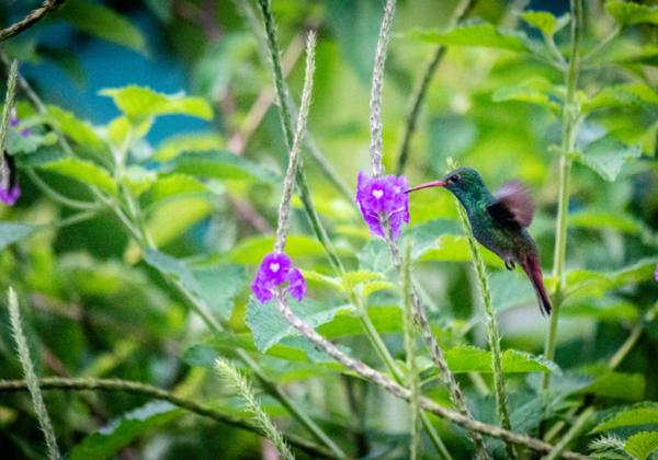
[[[110,392],[124,392],[138,394],[151,399],[167,401],[175,406],[179,406],[185,411],[214,419],[219,423],[231,425],[248,432],[258,433],[262,435],[262,430],[254,423],[237,417],[230,414],[224,414],[216,409],[201,404],[193,400],[183,399],[177,396],[174,393],[163,390],[161,388],[152,387],[150,384],[136,382],[132,380],[121,379],[92,379],[92,378],[59,378],[59,377],[47,377],[38,380],[38,386],[42,390],[64,390],[64,391],[110,391]],[[25,380],[0,380],[0,392],[11,393],[27,390],[27,382]],[[295,435],[284,435],[287,441],[304,450],[305,452],[321,458],[337,458],[330,451],[316,446],[306,439],[299,438]]]

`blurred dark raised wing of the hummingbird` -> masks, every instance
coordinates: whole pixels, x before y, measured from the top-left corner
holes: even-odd
[[[487,210],[502,226],[523,228],[532,222],[534,203],[522,183],[511,181],[494,194]]]

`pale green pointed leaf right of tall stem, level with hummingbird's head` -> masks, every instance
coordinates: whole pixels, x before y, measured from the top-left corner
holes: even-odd
[[[582,151],[576,153],[576,160],[590,168],[608,182],[614,180],[622,172],[623,165],[642,156],[639,146],[626,146],[619,140],[604,137],[594,140]]]

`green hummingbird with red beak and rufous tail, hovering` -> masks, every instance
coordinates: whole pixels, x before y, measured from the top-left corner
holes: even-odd
[[[534,287],[542,314],[551,314],[537,245],[527,232],[534,204],[523,184],[511,181],[491,193],[477,171],[458,168],[442,181],[417,185],[406,193],[429,187],[445,187],[452,192],[466,209],[475,239],[502,258],[507,269],[521,265]]]

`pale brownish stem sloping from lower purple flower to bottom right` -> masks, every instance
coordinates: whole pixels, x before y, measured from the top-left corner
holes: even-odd
[[[384,390],[386,390],[394,396],[405,401],[410,400],[411,392],[409,391],[409,389],[400,386],[399,383],[396,383],[389,377],[376,371],[372,367],[367,366],[365,363],[345,355],[336,345],[333,345],[331,342],[318,334],[308,323],[304,322],[299,317],[295,315],[295,313],[293,313],[281,292],[276,295],[275,300],[276,307],[284,315],[284,318],[293,325],[293,327],[299,331],[315,345],[327,352],[327,354],[333,359],[336,359],[338,363],[359,373],[362,378],[366,379],[367,381],[382,387]],[[477,433],[478,435],[484,434],[487,436],[492,436],[496,438],[503,439],[506,441],[518,444],[520,446],[525,446],[529,449],[535,450],[537,452],[547,453],[553,449],[552,445],[544,442],[541,439],[531,438],[526,435],[510,432],[509,429],[504,429],[499,426],[488,425],[481,422],[474,421],[472,417],[461,412],[455,412],[445,409],[436,404],[435,402],[429,400],[428,398],[421,396],[419,402],[420,406],[423,410],[436,414],[440,417],[450,419],[451,422],[454,422],[457,425],[465,427],[472,434]],[[564,451],[561,453],[561,457],[575,460],[586,459],[585,456],[570,451]]]

